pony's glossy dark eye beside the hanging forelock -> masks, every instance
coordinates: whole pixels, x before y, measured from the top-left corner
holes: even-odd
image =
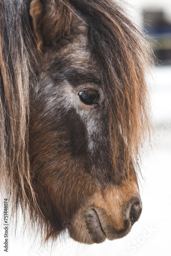
[[[97,104],[98,91],[96,90],[85,90],[78,93],[80,100],[87,105]]]

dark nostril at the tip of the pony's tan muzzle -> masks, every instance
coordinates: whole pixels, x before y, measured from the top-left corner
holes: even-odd
[[[132,198],[125,209],[125,219],[130,220],[133,225],[138,221],[142,211],[142,203],[138,197]]]

